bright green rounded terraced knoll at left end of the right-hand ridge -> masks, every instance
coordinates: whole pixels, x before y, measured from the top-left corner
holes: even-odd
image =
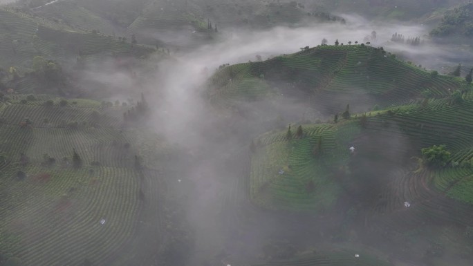
[[[360,133],[355,122],[303,125],[304,135],[286,132],[258,138],[252,155],[250,197],[270,209],[324,211],[342,193],[333,169],[350,158],[349,143]],[[294,135],[294,133],[292,133]]]

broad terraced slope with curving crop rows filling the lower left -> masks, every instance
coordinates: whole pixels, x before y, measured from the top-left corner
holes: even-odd
[[[19,98],[0,103],[4,119],[0,154],[6,159],[0,162],[2,254],[17,256],[24,265],[82,265],[86,258],[97,265],[112,265],[136,254],[147,260],[159,249],[164,234],[158,203],[163,198],[158,188],[163,184],[160,173],[153,170],[162,171],[162,165],[154,162],[153,169],[141,174],[133,167],[134,155],[157,156],[163,162],[159,154],[171,150],[156,137],[118,129],[122,107],[102,109],[100,103],[85,99],[47,107],[42,103],[50,96],[37,96],[37,102],[28,104],[19,104]],[[100,115],[93,117],[93,111]],[[24,117],[30,117],[33,125],[21,128]],[[48,123],[42,122],[43,117]],[[86,125],[80,123],[78,129],[64,125],[72,120]],[[66,156],[71,162],[73,149],[84,162],[82,169],[62,161]],[[30,158],[28,165],[19,164],[20,152]],[[41,164],[44,153],[56,159],[55,166]],[[93,161],[100,166],[92,166]],[[148,165],[147,160],[144,163]],[[20,169],[28,175],[24,180],[16,178]],[[141,197],[150,202],[143,205]],[[102,218],[104,225],[99,223]],[[138,229],[138,222],[146,234]],[[142,254],[134,248],[133,236],[153,250]]]

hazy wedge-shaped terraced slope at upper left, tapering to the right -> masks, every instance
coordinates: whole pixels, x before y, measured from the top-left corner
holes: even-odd
[[[81,51],[84,57],[97,55],[145,55],[151,50],[125,44],[113,37],[93,34],[39,17],[0,8],[0,65],[15,66],[20,73],[30,70],[33,57],[70,59]]]

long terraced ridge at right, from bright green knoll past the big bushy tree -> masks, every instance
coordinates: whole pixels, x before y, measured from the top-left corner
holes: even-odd
[[[360,117],[337,124],[303,125],[305,137],[301,140],[288,141],[285,131],[261,135],[259,149],[252,155],[252,200],[271,209],[317,211],[332,206],[341,193],[359,193],[367,200],[379,201],[378,194],[369,195],[370,185],[378,183],[379,187],[374,188],[377,193],[383,189],[396,191],[386,192],[383,209],[396,209],[403,200],[420,203],[431,197],[442,205],[456,205],[453,200],[438,199],[443,195],[472,205],[473,146],[470,140],[473,136],[467,114],[472,110],[473,99],[471,92],[463,97],[464,101],[459,104],[450,104],[447,97],[431,100],[425,106],[393,107],[391,114],[373,112],[363,125]],[[312,151],[318,140],[322,143],[322,155],[315,156]],[[452,152],[452,162],[457,162],[458,166],[438,171],[424,167],[407,173],[415,170],[409,166],[409,159],[419,156],[420,148],[434,144],[446,144]],[[353,154],[349,151],[351,145],[357,149]],[[292,169],[288,169],[289,164]],[[287,171],[279,175],[279,169]],[[368,169],[382,169],[384,174]],[[392,169],[398,170],[393,175],[387,174]],[[411,191],[409,184],[399,183],[406,178],[416,178],[429,193],[424,195],[420,188]],[[308,180],[315,183],[313,194],[307,192]],[[428,184],[432,184],[432,188]],[[328,203],[317,200],[319,193],[328,193],[324,199],[332,200]],[[461,204],[456,208],[459,206]],[[433,210],[427,207],[427,211]],[[445,213],[442,216],[447,217]],[[458,214],[449,218],[467,224],[470,216]]]

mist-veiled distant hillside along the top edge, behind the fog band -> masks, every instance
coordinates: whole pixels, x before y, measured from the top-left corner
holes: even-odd
[[[139,44],[195,46],[216,37],[216,31],[239,28],[296,26],[306,21],[344,22],[342,17],[308,10],[295,1],[44,1],[24,0],[17,6],[24,12],[54,19],[68,26],[98,30],[106,35],[130,39]],[[178,40],[174,35],[179,35]]]

